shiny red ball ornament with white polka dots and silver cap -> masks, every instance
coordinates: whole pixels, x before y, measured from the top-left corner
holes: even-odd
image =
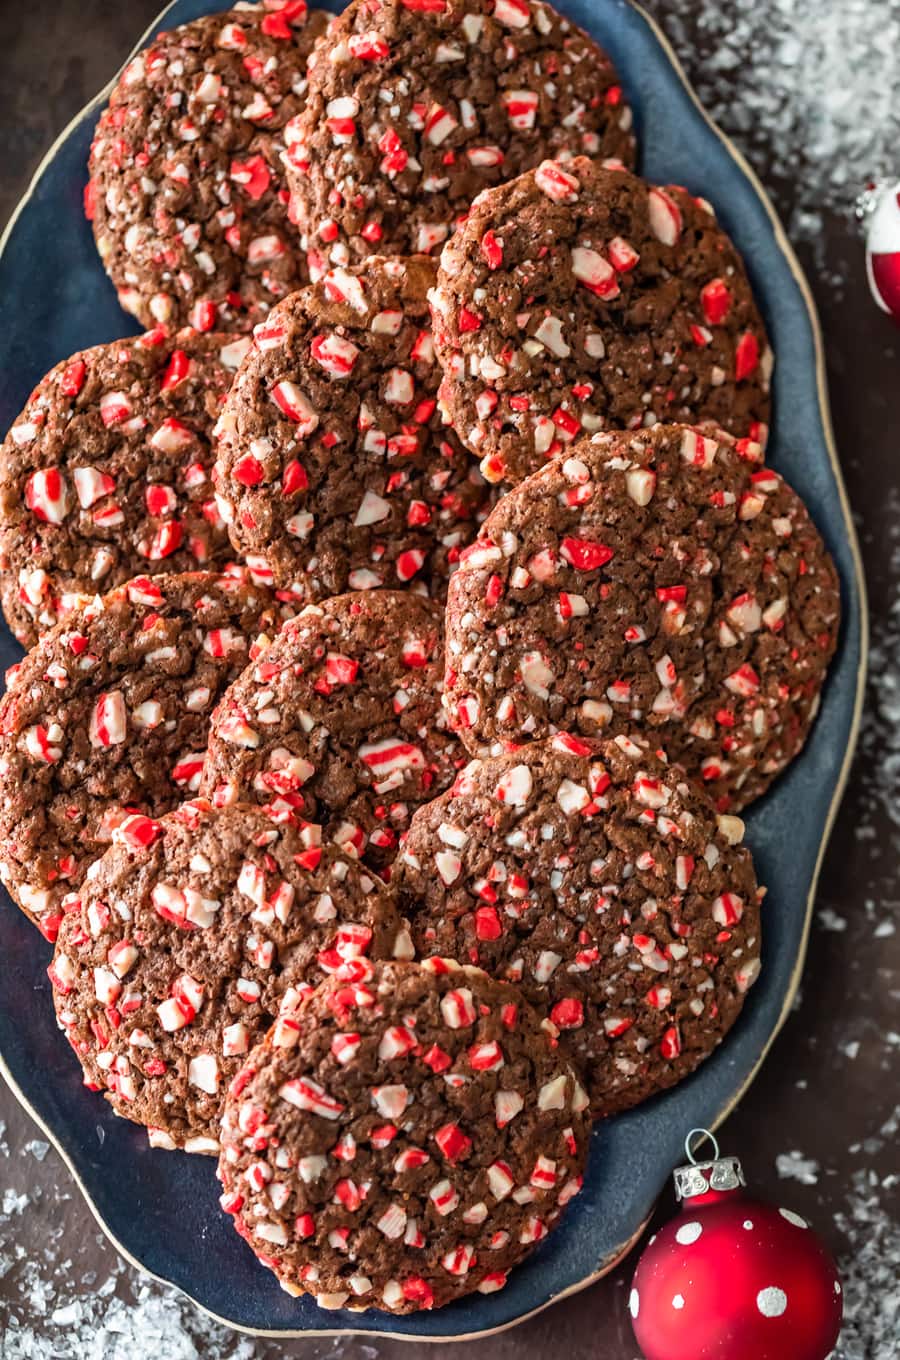
[[[697,1134],[712,1161],[695,1160]],[[650,1239],[628,1300],[646,1360],[825,1360],[843,1315],[828,1251],[799,1214],[748,1198],[711,1133],[692,1129],[685,1152],[681,1213]]]

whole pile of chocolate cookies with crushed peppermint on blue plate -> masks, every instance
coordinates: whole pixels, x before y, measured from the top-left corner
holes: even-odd
[[[0,453],[0,876],[86,1084],[322,1307],[502,1288],[760,971],[837,579],[742,261],[634,159],[542,0],[162,34],[86,194],[150,329]]]

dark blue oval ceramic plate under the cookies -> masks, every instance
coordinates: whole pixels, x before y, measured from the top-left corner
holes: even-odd
[[[318,0],[321,3],[321,0]],[[326,0],[328,3],[328,0]],[[0,902],[0,1053],[7,1080],[65,1157],[101,1227],[152,1274],[232,1325],[272,1334],[371,1331],[419,1338],[483,1336],[595,1280],[639,1234],[685,1130],[714,1127],[752,1081],[790,1006],[806,947],[816,877],[856,736],[863,683],[863,582],[832,445],[821,337],[808,286],[760,185],[710,124],[651,20],[623,0],[557,0],[612,54],[634,105],[642,171],[715,204],[746,260],[778,362],[769,458],[806,498],[843,586],[840,646],[810,741],[748,817],[748,840],[768,884],[764,967],[727,1042],[689,1081],[594,1134],[585,1193],[561,1229],[500,1293],[435,1314],[322,1312],[291,1299],[258,1266],[216,1205],[212,1161],[151,1152],[143,1130],[84,1091],[61,1040],[45,968],[49,951]],[[154,24],[208,12],[175,0]],[[41,375],[75,350],[133,332],[120,311],[82,215],[99,95],[50,151],[0,253],[0,430]],[[35,264],[39,275],[35,279]],[[18,658],[5,628],[3,666]]]

